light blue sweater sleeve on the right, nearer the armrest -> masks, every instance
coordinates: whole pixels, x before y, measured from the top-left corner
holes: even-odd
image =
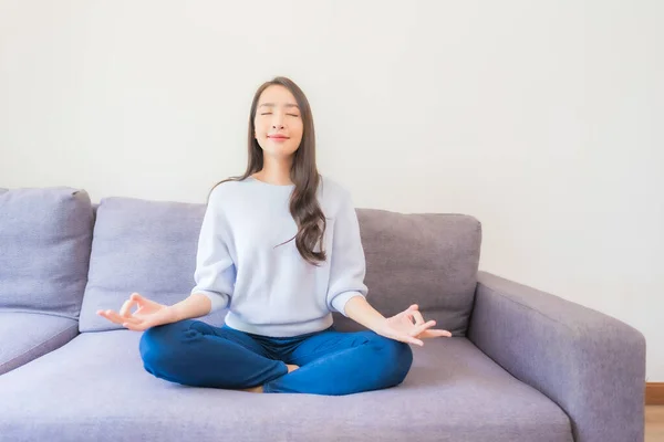
[[[345,304],[354,296],[366,296],[364,249],[360,224],[351,196],[345,192],[334,220],[328,307],[345,314]]]

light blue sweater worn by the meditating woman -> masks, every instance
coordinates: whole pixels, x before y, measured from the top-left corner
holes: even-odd
[[[228,308],[226,324],[257,335],[287,337],[332,325],[353,296],[366,296],[364,250],[347,190],[329,178],[318,189],[326,217],[328,260],[314,266],[300,255],[289,211],[291,186],[247,178],[212,190],[198,242],[191,293],[212,311]],[[320,250],[320,246],[314,249]]]

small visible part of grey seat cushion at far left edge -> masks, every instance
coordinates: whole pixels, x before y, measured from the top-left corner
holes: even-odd
[[[0,312],[0,375],[62,347],[77,334],[73,319]]]

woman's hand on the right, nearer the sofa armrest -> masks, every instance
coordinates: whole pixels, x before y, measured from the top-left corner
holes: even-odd
[[[435,320],[424,322],[417,304],[413,304],[404,312],[385,318],[375,333],[386,338],[401,340],[402,343],[424,346],[422,339],[436,337],[450,337],[452,333],[447,330],[432,329],[436,325]]]

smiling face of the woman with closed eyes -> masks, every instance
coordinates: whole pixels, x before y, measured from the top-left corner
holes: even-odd
[[[255,137],[263,155],[274,158],[292,156],[302,141],[302,113],[295,97],[283,86],[266,88],[256,108]]]

